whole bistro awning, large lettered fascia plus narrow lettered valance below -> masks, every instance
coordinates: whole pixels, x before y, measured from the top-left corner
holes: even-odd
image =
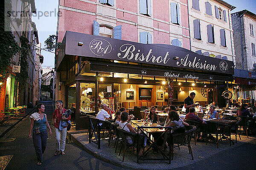
[[[232,61],[203,56],[174,45],[142,44],[66,31],[56,59],[57,70],[67,70],[68,58],[73,56],[92,58],[91,71],[219,81],[233,81],[234,74]],[[101,62],[102,59],[109,60]],[[140,64],[120,64],[113,60]]]

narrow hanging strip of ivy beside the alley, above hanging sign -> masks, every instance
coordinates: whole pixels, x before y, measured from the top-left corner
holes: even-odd
[[[28,74],[28,57],[30,54],[30,44],[26,37],[20,37],[21,47],[20,47],[20,73],[17,73],[17,81],[19,82],[20,90],[23,90],[26,85],[26,80],[29,77]]]

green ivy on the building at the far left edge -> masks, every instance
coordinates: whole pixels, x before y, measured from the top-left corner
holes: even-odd
[[[0,6],[0,82],[7,79],[7,68],[11,64],[11,59],[19,52],[19,46],[15,41],[11,31],[11,17],[5,18],[4,11],[12,10],[10,0],[5,0],[5,6]],[[6,31],[7,30],[7,31]],[[0,85],[0,94],[3,84]]]

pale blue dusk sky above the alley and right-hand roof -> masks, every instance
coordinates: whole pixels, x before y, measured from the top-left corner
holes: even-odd
[[[256,14],[256,0],[225,0],[230,5],[236,6],[231,13],[247,9]],[[32,16],[32,21],[35,22],[38,29],[38,38],[41,42],[41,48],[44,48],[44,41],[49,35],[56,34],[57,28],[57,11],[58,0],[35,0],[37,14]],[[49,14],[51,13],[51,16]],[[46,14],[45,16],[43,14]],[[41,16],[42,15],[42,16]],[[44,56],[42,66],[50,66],[54,68],[54,54],[41,51]],[[45,68],[45,67],[44,67]]]

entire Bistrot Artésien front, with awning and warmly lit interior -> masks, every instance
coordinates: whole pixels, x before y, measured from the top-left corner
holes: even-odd
[[[58,94],[75,108],[76,129],[101,104],[125,107],[176,105],[195,92],[195,102],[226,105],[221,93],[233,82],[233,62],[173,45],[141,44],[67,31],[56,59]],[[64,87],[64,88],[63,88]],[[60,95],[60,96],[61,96]],[[58,97],[61,99],[60,97]]]

